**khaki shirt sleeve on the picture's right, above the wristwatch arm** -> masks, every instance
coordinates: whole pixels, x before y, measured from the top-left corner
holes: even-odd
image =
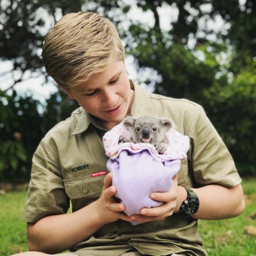
[[[196,106],[188,131],[190,137],[190,166],[198,185],[221,184],[234,187],[241,182],[234,160],[203,108]]]

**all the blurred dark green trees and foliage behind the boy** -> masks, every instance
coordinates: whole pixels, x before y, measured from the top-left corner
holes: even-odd
[[[153,25],[129,18],[132,3],[152,15]],[[0,5],[0,58],[14,63],[11,89],[28,74],[43,74],[47,82],[40,52],[49,23],[51,27],[69,12],[97,11],[116,24],[138,69],[151,68],[160,75],[155,92],[203,105],[239,173],[256,174],[254,0],[1,0]],[[169,29],[161,25],[160,7],[176,10],[177,17],[174,13],[171,17],[170,11]],[[121,25],[124,20],[126,27]],[[223,25],[217,28],[216,21]],[[144,82],[153,79],[149,76]],[[31,95],[1,91],[1,179],[28,179],[31,157],[41,138],[77,107],[61,91],[41,105]],[[39,114],[40,107],[44,111]]]

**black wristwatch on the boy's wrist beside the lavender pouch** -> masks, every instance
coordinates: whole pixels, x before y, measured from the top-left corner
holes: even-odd
[[[179,208],[179,215],[192,217],[199,208],[199,199],[191,188],[185,187],[185,190],[187,190],[187,199],[182,202]]]

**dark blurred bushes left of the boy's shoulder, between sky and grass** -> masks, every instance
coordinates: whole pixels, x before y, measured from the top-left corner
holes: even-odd
[[[70,116],[78,107],[60,91],[47,100],[47,108],[39,113],[41,102],[30,94],[17,96],[0,91],[0,181],[27,182],[31,160],[44,134],[57,122]],[[74,106],[75,105],[75,106]]]

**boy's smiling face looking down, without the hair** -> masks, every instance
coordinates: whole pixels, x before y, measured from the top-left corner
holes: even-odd
[[[116,58],[113,58],[106,71],[92,75],[86,82],[69,90],[63,90],[110,129],[130,113],[134,97],[124,62]]]

